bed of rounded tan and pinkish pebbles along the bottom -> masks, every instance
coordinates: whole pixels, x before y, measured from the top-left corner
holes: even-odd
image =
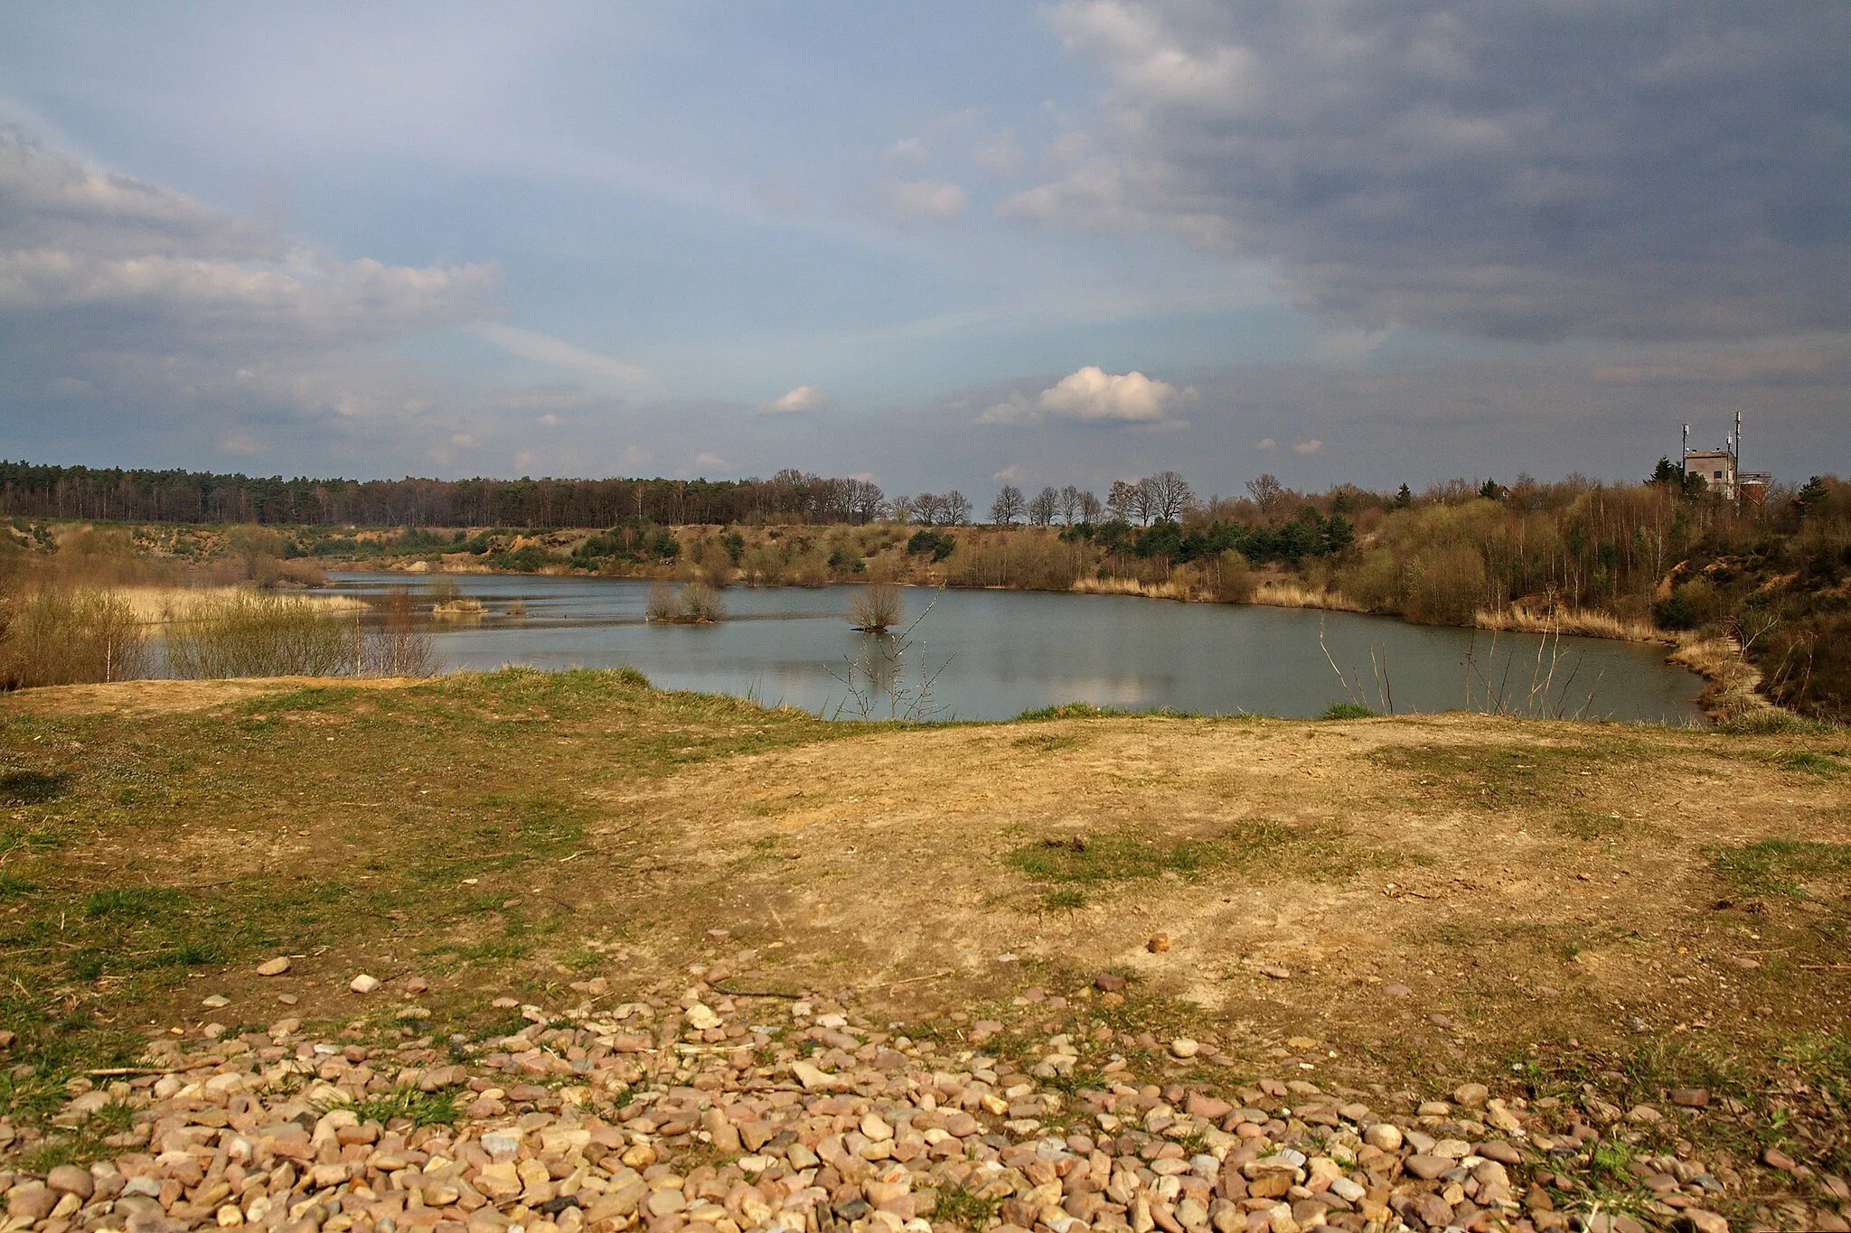
[[[305,1033],[300,1019],[217,1044],[161,1039],[148,1056],[155,1072],[126,1083],[126,1096],[93,1089],[61,1113],[70,1124],[104,1100],[131,1104],[133,1128],[109,1141],[115,1155],[43,1178],[4,1174],[7,1227],[944,1233],[931,1205],[946,1187],[1000,1203],[990,1233],[1638,1227],[1570,1205],[1583,1189],[1553,1172],[1584,1168],[1584,1141],[1570,1135],[1583,1117],[1609,1126],[1603,1135],[1640,1137],[1614,1126],[1612,1105],[1614,1118],[1599,1118],[1592,1094],[1529,1104],[1522,1089],[1499,1098],[1464,1083],[1416,1113],[1412,1096],[1377,1100],[1299,1070],[1225,1093],[1157,1087],[1135,1076],[1131,1050],[1114,1052],[1125,1046],[1111,1033],[1050,1026],[1022,1056],[990,1054],[979,1035],[1001,1035],[1000,1020],[970,1024],[963,1039],[913,1041],[851,1006],[798,1002],[776,1032],[755,1026],[774,1015],[763,1002],[737,1007],[702,985],[679,1006],[524,1006],[520,1032],[483,1043],[405,1035],[363,1046]],[[1316,1044],[1292,1039],[1301,1043]],[[1218,1057],[1183,1035],[1164,1046],[1179,1059]],[[1138,1048],[1155,1052],[1159,1039]],[[355,1102],[394,1087],[457,1093],[455,1124],[363,1124]],[[1671,1104],[1690,1107],[1675,1094]],[[1566,1157],[1553,1154],[1559,1142]],[[1734,1190],[1716,1200],[1740,1196],[1729,1161],[1634,1152],[1655,1222],[1729,1227],[1699,1207],[1725,1189],[1712,1166]],[[1762,1161],[1784,1170],[1783,1190],[1844,1185],[1807,1183],[1779,1150]],[[1832,1209],[1805,1211],[1812,1227],[1832,1227],[1831,1194]]]

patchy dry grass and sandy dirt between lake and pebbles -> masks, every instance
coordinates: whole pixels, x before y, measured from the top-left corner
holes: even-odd
[[[1114,971],[1129,1002],[1083,1013],[1248,1074],[1705,1085],[1744,1150],[1851,1163],[1842,732],[1074,715],[831,725],[529,671],[0,699],[11,1100],[198,1032],[207,993],[391,1032],[361,971],[426,976],[441,1032],[694,971],[946,1033]]]

